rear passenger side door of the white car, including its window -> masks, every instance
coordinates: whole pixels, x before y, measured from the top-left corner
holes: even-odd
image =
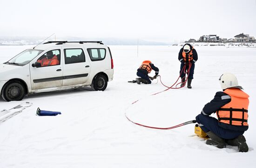
[[[63,53],[63,86],[87,83],[91,65],[83,47],[65,47]]]

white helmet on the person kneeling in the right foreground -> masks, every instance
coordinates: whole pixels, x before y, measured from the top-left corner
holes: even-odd
[[[219,78],[219,81],[223,90],[229,87],[236,87],[236,88],[243,89],[243,87],[238,86],[238,81],[236,79],[236,76],[231,73],[222,74],[221,77]]]

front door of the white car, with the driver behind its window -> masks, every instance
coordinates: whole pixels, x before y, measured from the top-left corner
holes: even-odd
[[[30,62],[30,78],[33,91],[53,87],[62,87],[62,55],[63,53],[61,53],[60,49],[52,49],[42,52],[42,54]],[[48,59],[50,57],[52,58]],[[32,64],[35,62],[40,62],[41,67],[33,67]]]

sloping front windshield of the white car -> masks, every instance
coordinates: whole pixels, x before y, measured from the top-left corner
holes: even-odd
[[[6,64],[18,65],[23,66],[33,60],[36,56],[38,56],[43,50],[32,50],[28,49],[17,56],[14,56],[10,61],[5,62]]]

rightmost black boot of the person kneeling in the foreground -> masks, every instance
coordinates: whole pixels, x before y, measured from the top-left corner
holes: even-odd
[[[239,135],[234,139],[228,139],[227,143],[231,146],[237,146],[238,152],[248,152],[249,150],[245,137],[243,135]]]

